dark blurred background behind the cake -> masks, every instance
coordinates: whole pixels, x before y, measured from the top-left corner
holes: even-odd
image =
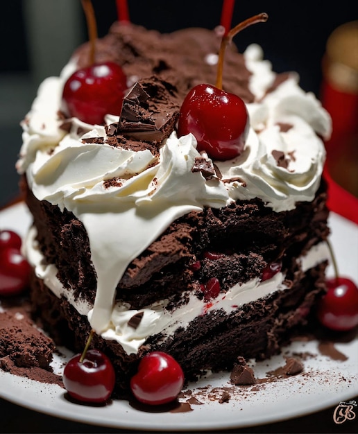
[[[76,14],[65,9],[69,3]],[[222,7],[221,0],[129,0],[128,3],[133,23],[164,33],[189,26],[214,28],[220,22]],[[63,6],[63,14],[59,13],[59,5]],[[116,1],[93,0],[93,5],[101,37],[117,19]],[[1,6],[0,206],[17,193],[14,165],[22,143],[19,121],[29,110],[37,86],[45,76],[58,75],[72,50],[87,40],[80,0],[11,0],[2,2]],[[40,38],[42,44],[46,44],[42,58],[46,60],[47,55],[49,59],[42,69],[33,55],[37,49],[33,42],[36,27],[29,28],[30,7],[33,13],[35,11],[35,18],[40,19],[40,23],[46,22],[50,29]],[[339,25],[358,19],[358,2],[237,0],[232,26],[259,12],[267,12],[269,20],[235,36],[239,50],[244,51],[253,42],[260,44],[265,58],[271,60],[276,71],[298,71],[302,88],[319,97],[321,60],[327,38]],[[74,25],[76,37],[69,40]]]

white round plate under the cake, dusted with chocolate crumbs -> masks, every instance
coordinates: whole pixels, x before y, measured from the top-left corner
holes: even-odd
[[[0,212],[0,228],[15,229],[24,234],[31,218],[24,204],[19,203]],[[340,275],[358,282],[358,226],[336,214],[330,216],[331,241],[336,253]],[[333,270],[329,268],[328,275]],[[41,413],[87,424],[112,428],[146,429],[152,431],[196,431],[242,428],[279,422],[339,405],[358,395],[358,339],[336,343],[342,357],[334,359],[319,351],[318,342],[293,342],[282,355],[253,364],[259,383],[235,387],[229,374],[215,374],[190,384],[180,402],[183,413],[136,410],[128,401],[113,401],[105,407],[82,406],[71,403],[65,390],[15,376],[0,370],[0,396],[20,406]],[[60,374],[68,351],[55,355],[53,369]],[[273,371],[284,365],[284,356],[299,356],[304,365],[301,374],[282,379]],[[223,392],[229,401],[220,403]],[[189,397],[195,399],[190,399]],[[189,403],[187,401],[189,400]],[[199,405],[199,403],[202,405]],[[185,407],[182,406],[182,407]],[[189,411],[188,411],[189,410]]]

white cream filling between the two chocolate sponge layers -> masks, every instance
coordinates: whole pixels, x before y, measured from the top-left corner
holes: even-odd
[[[67,301],[74,306],[78,313],[89,315],[89,320],[91,320],[93,306],[82,300],[74,300],[71,290],[62,286],[56,277],[56,266],[46,264],[35,238],[36,230],[32,228],[24,242],[24,253],[35,268],[35,275],[43,279],[46,286],[57,297],[67,298]],[[314,245],[305,256],[300,257],[298,262],[302,272],[305,272],[329,258],[330,251],[327,243],[320,243]],[[267,297],[276,290],[289,290],[283,282],[282,272],[278,272],[266,281],[252,279],[245,284],[236,284],[225,293],[220,293],[219,297],[210,300],[210,302],[199,300],[196,295],[189,293],[187,294],[189,298],[187,304],[174,311],[167,309],[169,300],[162,300],[162,302],[151,304],[140,310],[130,309],[126,303],[116,302],[110,317],[111,327],[102,333],[102,337],[108,340],[117,340],[127,354],[137,354],[139,347],[144,344],[148,336],[162,333],[164,339],[179,328],[186,329],[198,315],[210,313],[217,309],[222,309],[229,315],[239,306]],[[138,324],[133,325],[130,320],[135,315],[141,315],[141,320]]]

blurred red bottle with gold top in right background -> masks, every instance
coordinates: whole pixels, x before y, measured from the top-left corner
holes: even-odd
[[[358,21],[328,37],[322,68],[321,101],[333,128],[325,173],[336,184],[330,186],[328,205],[332,211],[343,207],[340,214],[348,212],[358,223]]]

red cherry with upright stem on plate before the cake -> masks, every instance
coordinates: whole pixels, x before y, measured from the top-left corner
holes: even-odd
[[[110,359],[98,349],[76,354],[65,366],[62,380],[69,395],[83,402],[103,403],[112,394],[115,374]]]

